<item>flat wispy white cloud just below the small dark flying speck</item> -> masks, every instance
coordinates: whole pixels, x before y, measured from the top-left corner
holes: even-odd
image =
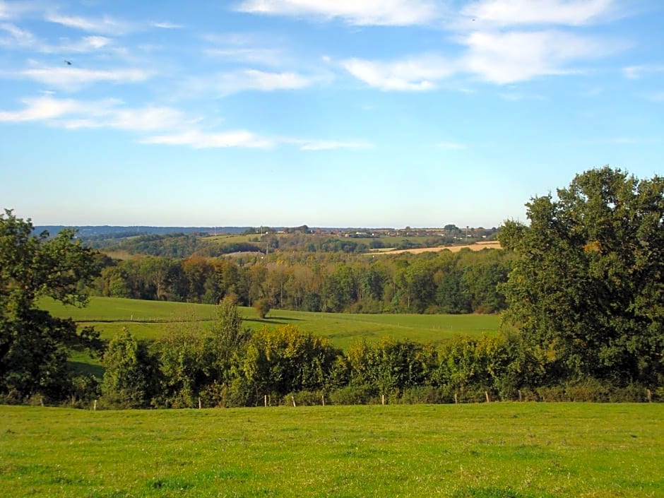
[[[100,81],[138,83],[146,81],[152,75],[146,69],[101,70],[82,69],[73,66],[24,69],[13,74],[19,78],[28,78],[69,91],[78,90]]]

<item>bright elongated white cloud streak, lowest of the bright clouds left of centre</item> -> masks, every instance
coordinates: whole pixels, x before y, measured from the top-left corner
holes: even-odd
[[[244,130],[220,133],[191,130],[179,134],[149,136],[141,139],[140,142],[193,148],[269,148],[274,145],[272,141]]]

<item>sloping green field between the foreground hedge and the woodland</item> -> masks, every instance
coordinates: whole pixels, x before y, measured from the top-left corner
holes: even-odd
[[[201,320],[210,326],[216,307],[211,304],[186,304],[93,297],[88,307],[65,307],[43,300],[43,309],[56,316],[69,317],[81,324],[94,325],[103,338],[111,338],[126,326],[138,338],[158,338],[170,323]],[[301,331],[324,336],[338,348],[347,348],[353,340],[383,337],[408,338],[420,342],[439,343],[458,334],[494,333],[499,326],[495,315],[419,315],[419,314],[347,314],[307,313],[272,310],[266,319],[259,319],[252,308],[241,308],[244,324],[253,328],[292,324]]]

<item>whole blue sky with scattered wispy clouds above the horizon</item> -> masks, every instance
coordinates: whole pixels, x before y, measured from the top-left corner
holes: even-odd
[[[0,0],[0,207],[525,221],[592,167],[663,174],[663,26],[659,0]]]

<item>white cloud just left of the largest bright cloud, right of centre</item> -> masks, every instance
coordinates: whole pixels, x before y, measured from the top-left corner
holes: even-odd
[[[381,90],[432,90],[436,82],[455,72],[455,64],[437,56],[422,55],[398,61],[348,59],[343,68],[367,85]]]

